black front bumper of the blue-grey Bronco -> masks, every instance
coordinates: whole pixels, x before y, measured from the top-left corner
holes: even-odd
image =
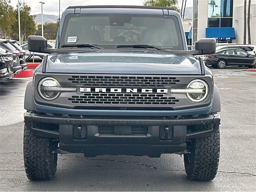
[[[86,156],[103,154],[126,154],[135,156],[160,156],[164,153],[177,153],[186,151],[186,142],[189,139],[201,138],[218,130],[220,116],[208,115],[204,117],[190,118],[138,118],[138,117],[56,117],[43,114],[24,114],[26,127],[39,136],[58,138],[60,148],[63,151],[84,153]],[[31,122],[58,124],[58,130],[49,130],[33,127]],[[211,130],[200,132],[188,132],[187,126],[214,124]],[[116,126],[118,134],[101,134],[100,126]],[[74,129],[77,126],[86,127],[86,137],[75,138]],[[127,127],[146,126],[146,134],[124,134]],[[76,128],[74,128],[76,127]],[[168,127],[172,131],[172,137],[168,140],[160,138],[160,128]],[[76,133],[77,134],[77,133]],[[185,153],[185,152],[184,152]]]

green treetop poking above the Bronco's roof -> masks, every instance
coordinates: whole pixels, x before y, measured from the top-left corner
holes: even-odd
[[[145,0],[144,6],[170,7],[180,12],[178,8],[178,0]]]

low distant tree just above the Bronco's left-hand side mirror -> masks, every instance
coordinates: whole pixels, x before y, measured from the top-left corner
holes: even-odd
[[[44,24],[44,38],[48,40],[56,39],[57,32],[58,32],[59,23],[45,23]],[[35,35],[42,35],[42,28],[38,27],[36,30]]]

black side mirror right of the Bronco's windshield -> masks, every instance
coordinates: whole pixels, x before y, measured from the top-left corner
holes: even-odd
[[[196,42],[196,50],[202,55],[216,52],[216,40],[214,38],[201,38]]]

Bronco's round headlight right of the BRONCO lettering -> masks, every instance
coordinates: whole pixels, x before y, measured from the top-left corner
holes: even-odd
[[[187,93],[187,96],[192,102],[204,101],[209,93],[207,83],[200,79],[191,81],[188,84],[187,89],[191,90],[190,93]]]

